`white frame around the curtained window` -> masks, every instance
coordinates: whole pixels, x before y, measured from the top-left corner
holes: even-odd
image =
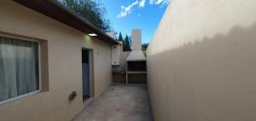
[[[20,39],[20,40],[24,40],[24,41],[29,41],[29,42],[36,42],[38,43],[38,90],[35,90],[35,91],[32,91],[32,92],[29,92],[29,93],[26,93],[24,95],[18,95],[18,96],[15,96],[13,98],[10,98],[10,99],[7,99],[7,100],[4,100],[4,101],[0,101],[0,106],[3,105],[3,104],[6,104],[6,103],[9,103],[11,101],[16,101],[16,100],[19,100],[19,99],[22,99],[22,98],[25,98],[29,95],[35,95],[35,94],[38,94],[39,92],[41,92],[41,89],[42,89],[42,83],[41,83],[41,49],[40,49],[40,41],[36,40],[36,39],[33,39],[33,38],[29,38],[29,37],[18,37],[18,36],[14,36],[14,35],[9,35],[9,34],[3,34],[0,32],[0,37],[9,37],[9,38],[14,38],[14,39]]]

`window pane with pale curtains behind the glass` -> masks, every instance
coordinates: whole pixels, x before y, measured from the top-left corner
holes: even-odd
[[[38,42],[0,37],[0,103],[37,92]]]

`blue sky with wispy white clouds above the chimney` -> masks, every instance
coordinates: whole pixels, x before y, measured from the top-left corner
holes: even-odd
[[[131,36],[131,29],[141,28],[143,43],[149,43],[170,0],[102,0],[102,3],[116,32]]]

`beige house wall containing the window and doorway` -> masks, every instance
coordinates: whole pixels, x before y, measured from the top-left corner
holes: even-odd
[[[12,1],[0,2],[0,15],[1,33],[32,37],[44,46],[41,55],[44,91],[0,105],[1,121],[68,121],[78,114],[83,105],[82,47],[93,49],[95,95],[108,89],[112,80],[111,45]],[[68,95],[73,90],[78,96],[69,101]]]

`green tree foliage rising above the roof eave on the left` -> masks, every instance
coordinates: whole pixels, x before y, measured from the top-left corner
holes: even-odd
[[[107,14],[107,10],[102,6],[100,0],[59,0],[59,2],[99,27],[103,32],[113,30],[110,21],[104,16]]]

